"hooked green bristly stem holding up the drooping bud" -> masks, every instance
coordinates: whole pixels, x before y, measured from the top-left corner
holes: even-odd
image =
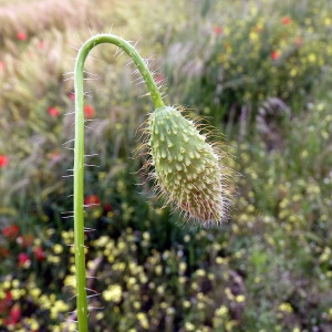
[[[87,331],[86,277],[84,253],[84,90],[83,68],[89,52],[101,43],[115,44],[127,53],[139,70],[155,107],[163,107],[164,102],[158,87],[145,61],[133,45],[114,34],[97,34],[89,39],[80,49],[74,70],[75,85],[75,146],[74,146],[74,246],[77,292],[77,330]]]

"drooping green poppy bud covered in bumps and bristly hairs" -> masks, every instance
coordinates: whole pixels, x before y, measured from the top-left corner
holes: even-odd
[[[228,172],[220,165],[218,149],[174,107],[157,108],[151,115],[149,132],[154,176],[166,204],[184,210],[201,226],[225,220]]]

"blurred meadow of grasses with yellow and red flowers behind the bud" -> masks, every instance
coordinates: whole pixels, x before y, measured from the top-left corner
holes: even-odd
[[[71,72],[108,31],[153,56],[167,103],[224,134],[239,176],[229,222],[179,226],[133,158],[146,89],[94,49],[91,331],[332,331],[331,1],[1,0],[0,22],[0,331],[75,330]]]

